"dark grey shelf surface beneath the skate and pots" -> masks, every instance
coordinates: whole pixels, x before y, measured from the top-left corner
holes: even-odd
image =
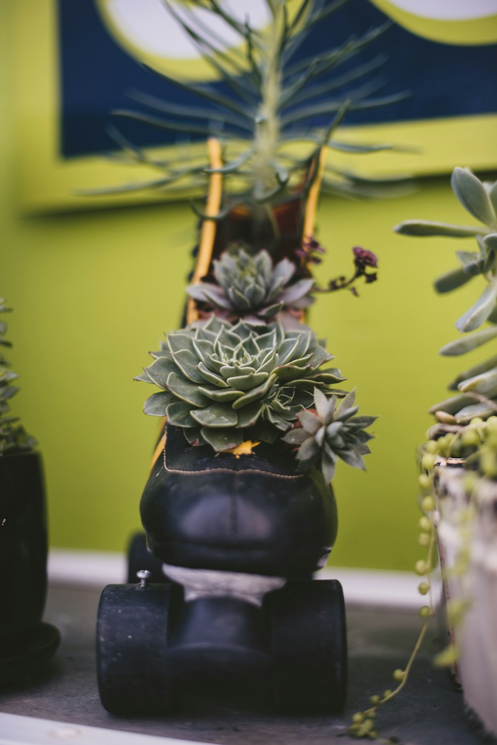
[[[0,691],[0,711],[220,745],[350,745],[358,742],[346,734],[350,715],[366,708],[372,694],[394,687],[391,672],[405,666],[420,629],[420,618],[412,610],[347,608],[349,693],[342,717],[282,716],[269,708],[190,697],[173,717],[123,719],[102,708],[97,692],[94,627],[99,595],[97,589],[51,589],[45,621],[59,627],[60,650],[42,679]],[[463,697],[452,687],[449,674],[432,668],[432,654],[440,645],[437,636],[434,624],[408,686],[379,714],[383,738],[394,735],[403,745],[481,742],[464,716]]]

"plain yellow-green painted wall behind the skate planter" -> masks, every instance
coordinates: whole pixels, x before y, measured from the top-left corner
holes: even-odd
[[[0,4],[2,48],[9,6]],[[7,85],[7,111],[11,93]],[[150,391],[132,378],[161,332],[179,323],[195,218],[178,203],[22,216],[11,118],[1,126],[0,292],[15,308],[11,357],[22,392],[14,408],[45,459],[51,544],[121,550],[139,526],[157,427],[141,413]],[[342,464],[336,478],[333,559],[341,565],[408,569],[419,557],[415,450],[426,409],[459,367],[437,349],[455,337],[454,320],[477,291],[473,284],[435,296],[432,277],[454,263],[454,242],[391,232],[403,218],[468,222],[448,177],[419,186],[383,202],[323,198],[319,208],[318,237],[328,248],[321,282],[350,271],[355,245],[380,264],[379,282],[359,288],[361,297],[321,297],[311,313],[357,385],[362,413],[380,415],[368,473]]]

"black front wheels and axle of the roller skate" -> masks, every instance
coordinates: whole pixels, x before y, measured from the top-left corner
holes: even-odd
[[[109,585],[97,621],[97,673],[113,714],[164,715],[205,687],[273,695],[292,711],[340,711],[347,642],[336,580],[288,583],[262,606],[234,597],[185,602],[181,586]]]

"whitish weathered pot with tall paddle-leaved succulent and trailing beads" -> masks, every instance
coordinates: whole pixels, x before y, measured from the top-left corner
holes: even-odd
[[[485,282],[480,297],[456,323],[464,336],[440,349],[441,355],[448,356],[495,344],[497,338],[497,182],[482,182],[467,168],[455,168],[452,189],[481,226],[406,221],[395,228],[404,235],[444,235],[477,242],[476,250],[457,252],[461,267],[435,280],[439,292],[452,291],[478,276]],[[429,429],[429,442],[420,459],[423,520],[428,523],[426,536],[433,526],[437,530],[449,620],[449,647],[439,661],[452,665],[456,680],[461,682],[466,707],[495,736],[496,354],[457,375],[449,389],[458,393],[430,409],[437,423]],[[420,561],[420,574],[430,573],[431,569],[430,562]]]

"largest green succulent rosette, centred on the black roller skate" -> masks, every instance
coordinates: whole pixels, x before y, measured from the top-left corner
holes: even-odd
[[[145,413],[167,416],[184,428],[190,443],[230,450],[244,440],[274,442],[312,405],[318,387],[344,380],[310,330],[280,323],[231,326],[211,316],[166,335],[155,360],[139,380],[162,389],[147,399]],[[344,395],[342,391],[335,391]]]

